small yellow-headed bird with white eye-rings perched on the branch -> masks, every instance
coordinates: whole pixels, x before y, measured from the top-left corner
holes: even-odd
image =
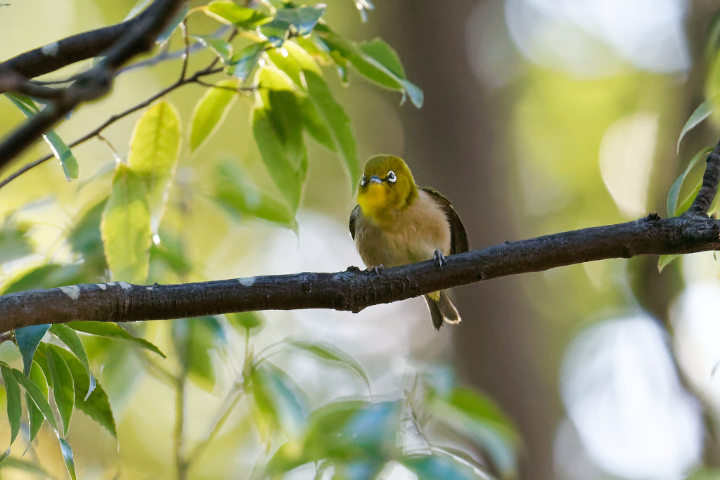
[[[467,252],[460,216],[440,192],[415,185],[405,161],[375,155],[365,164],[358,205],[350,214],[350,235],[369,269],[394,267]],[[425,296],[435,330],[459,323],[460,314],[445,291]]]

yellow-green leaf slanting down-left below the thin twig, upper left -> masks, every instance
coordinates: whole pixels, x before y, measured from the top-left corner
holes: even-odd
[[[238,80],[222,80],[215,83],[215,87],[208,88],[199,99],[192,111],[192,125],[190,130],[190,151],[194,152],[202,142],[211,137],[225,117],[230,112],[230,107],[238,98],[237,91],[230,89],[238,88]]]

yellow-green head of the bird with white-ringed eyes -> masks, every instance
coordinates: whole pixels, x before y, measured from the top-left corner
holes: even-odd
[[[417,196],[415,178],[402,158],[375,155],[367,160],[358,190],[358,204],[367,217],[381,219],[407,207]]]

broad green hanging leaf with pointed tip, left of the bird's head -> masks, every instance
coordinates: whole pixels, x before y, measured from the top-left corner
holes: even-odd
[[[284,132],[286,135],[282,135],[273,119],[281,119],[292,135],[287,135],[287,131]],[[253,134],[261,157],[294,217],[307,173],[307,151],[302,140],[302,126],[293,122],[297,122],[297,119],[284,119],[279,112],[271,112],[266,108],[255,109],[253,113]],[[289,138],[296,142],[294,147],[289,145]],[[300,155],[299,160],[297,155]],[[298,162],[300,165],[295,168]]]

